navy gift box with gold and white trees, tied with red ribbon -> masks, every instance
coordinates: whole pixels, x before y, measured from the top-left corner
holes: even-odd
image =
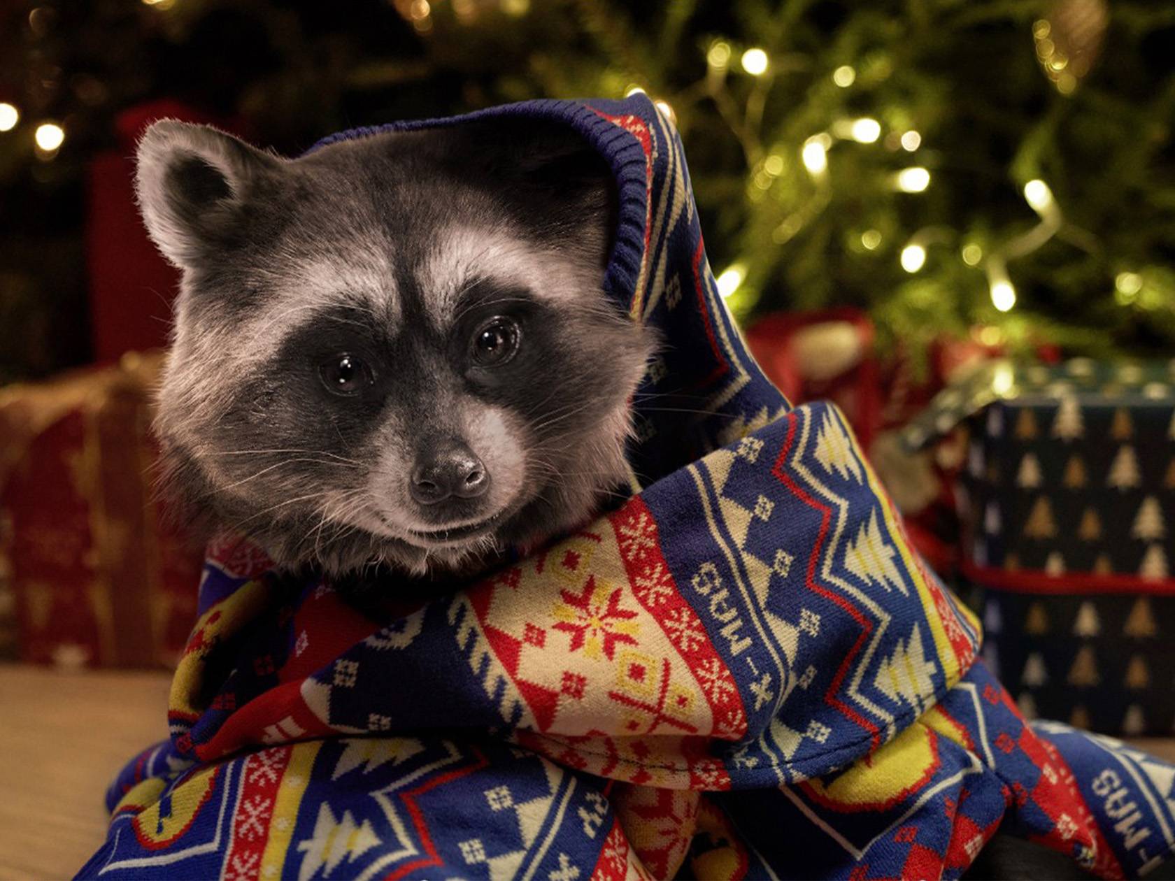
[[[909,446],[968,432],[961,572],[1026,713],[1175,731],[1175,362],[996,362]]]

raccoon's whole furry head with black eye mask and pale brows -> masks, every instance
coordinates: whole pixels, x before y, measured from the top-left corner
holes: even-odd
[[[611,184],[486,122],[281,160],[156,123],[148,230],[183,269],[157,430],[187,510],[288,566],[474,566],[626,482],[652,339],[605,302]]]

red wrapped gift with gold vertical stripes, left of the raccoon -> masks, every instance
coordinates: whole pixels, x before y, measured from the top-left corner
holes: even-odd
[[[152,492],[157,354],[0,390],[0,578],[22,660],[170,665],[195,619],[199,549]]]

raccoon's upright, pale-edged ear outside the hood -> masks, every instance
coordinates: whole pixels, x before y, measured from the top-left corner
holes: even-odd
[[[281,160],[210,126],[161,120],[139,141],[136,164],[147,231],[186,268],[240,230],[250,190]]]

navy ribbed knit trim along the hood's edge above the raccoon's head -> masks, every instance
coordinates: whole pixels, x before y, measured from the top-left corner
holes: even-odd
[[[458,126],[477,120],[503,116],[529,116],[570,126],[603,156],[612,169],[617,187],[617,227],[607,270],[604,274],[604,290],[627,311],[636,292],[640,261],[645,248],[645,217],[647,200],[646,157],[644,148],[630,133],[611,120],[604,119],[592,105],[602,107],[610,115],[633,114],[649,119],[656,114],[652,102],[643,93],[624,101],[556,101],[550,99],[523,101],[484,110],[432,120],[389,122],[383,126],[365,126],[330,135],[315,143],[307,154],[340,141],[370,137],[388,132],[415,132],[424,128]]]

